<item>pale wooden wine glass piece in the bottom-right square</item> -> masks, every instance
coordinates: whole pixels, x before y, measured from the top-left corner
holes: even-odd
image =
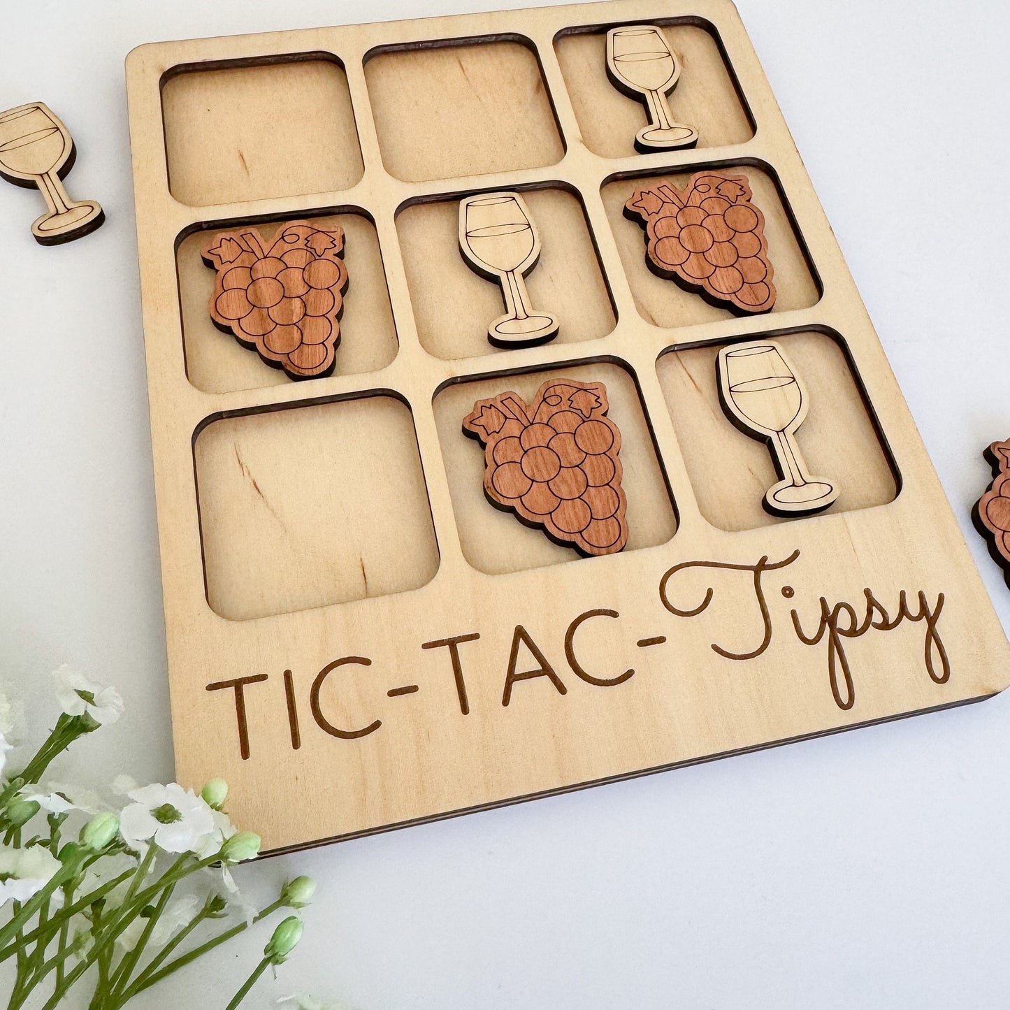
[[[723,347],[716,363],[719,400],[733,423],[768,443],[782,478],[765,493],[772,515],[812,515],[834,503],[838,489],[811,477],[796,440],[810,397],[779,345],[771,340]]]

